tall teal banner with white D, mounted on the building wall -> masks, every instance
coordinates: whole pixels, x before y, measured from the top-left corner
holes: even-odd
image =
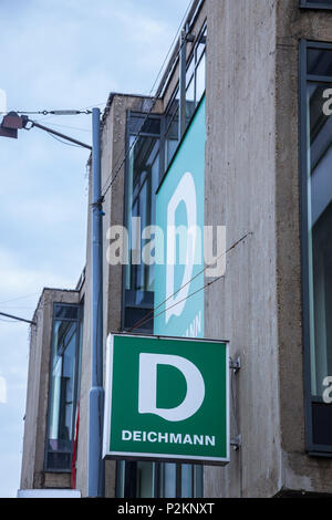
[[[204,337],[205,145],[203,98],[157,191],[156,335]]]

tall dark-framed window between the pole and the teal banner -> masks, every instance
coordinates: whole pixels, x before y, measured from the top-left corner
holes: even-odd
[[[155,193],[160,178],[160,124],[158,116],[146,118],[144,114],[128,114],[125,227],[128,231],[129,258],[128,266],[124,266],[123,270],[125,330],[139,321],[143,323],[144,316],[154,308],[154,266],[143,263],[142,252],[149,241],[149,238],[143,238],[143,230],[155,223]],[[142,324],[141,330],[152,332],[153,320]]]

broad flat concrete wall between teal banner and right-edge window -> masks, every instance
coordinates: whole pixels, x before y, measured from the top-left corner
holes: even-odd
[[[205,334],[230,341],[231,435],[206,468],[207,497],[269,497],[281,485],[276,288],[274,0],[208,0],[205,223],[227,226],[226,275],[206,291]],[[209,281],[209,279],[207,279]]]

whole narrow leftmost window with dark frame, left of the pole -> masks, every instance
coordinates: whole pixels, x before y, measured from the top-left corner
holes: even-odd
[[[80,363],[80,305],[54,304],[45,470],[70,471]]]

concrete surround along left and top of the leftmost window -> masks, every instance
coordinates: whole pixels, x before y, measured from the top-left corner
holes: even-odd
[[[31,326],[21,489],[69,488],[70,474],[45,474],[53,303],[79,303],[76,291],[44,289]]]

